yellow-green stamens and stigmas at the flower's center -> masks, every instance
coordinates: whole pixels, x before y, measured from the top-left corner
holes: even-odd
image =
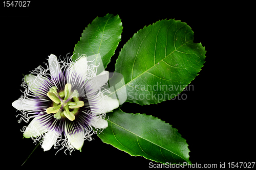
[[[53,86],[47,96],[53,101],[53,106],[46,109],[46,113],[54,113],[54,117],[60,119],[67,117],[71,121],[75,119],[75,114],[79,107],[82,107],[83,101],[79,101],[77,90],[71,91],[71,84],[65,85],[64,91],[57,92],[57,87]]]

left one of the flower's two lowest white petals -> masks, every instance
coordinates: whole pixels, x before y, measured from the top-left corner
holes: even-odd
[[[42,148],[44,149],[44,151],[49,151],[53,144],[57,141],[57,138],[59,137],[60,133],[56,132],[56,131],[48,131],[44,141],[42,142]]]

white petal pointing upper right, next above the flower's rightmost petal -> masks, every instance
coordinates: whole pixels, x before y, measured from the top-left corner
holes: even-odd
[[[91,92],[99,90],[109,80],[109,71],[102,71],[101,74],[95,76],[88,81],[90,86],[93,88]]]

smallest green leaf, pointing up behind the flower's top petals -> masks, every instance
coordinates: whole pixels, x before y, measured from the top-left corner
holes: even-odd
[[[72,60],[75,61],[81,54],[92,56],[100,53],[106,68],[121,41],[122,29],[122,22],[118,15],[107,14],[104,17],[95,18],[83,31],[80,41],[75,45],[75,55]]]

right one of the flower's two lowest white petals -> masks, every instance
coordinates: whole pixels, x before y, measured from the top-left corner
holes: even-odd
[[[68,133],[66,134],[69,142],[73,145],[73,147],[77,150],[80,150],[84,141],[84,129],[81,132],[75,133],[74,135],[69,135]]]

